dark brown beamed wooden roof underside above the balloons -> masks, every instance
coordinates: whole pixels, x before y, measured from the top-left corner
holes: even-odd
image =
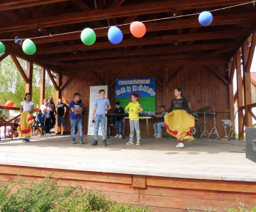
[[[252,3],[212,12],[214,20],[206,27],[200,26],[198,15],[149,21],[145,23],[146,35],[140,39],[132,36],[129,25],[120,26],[124,39],[118,45],[108,40],[108,26],[190,15],[246,2],[249,1],[4,0],[0,1],[0,40],[32,38],[37,45],[33,56],[26,56],[13,40],[2,42],[7,53],[56,72],[225,63],[255,31],[256,6]],[[80,31],[86,27],[97,34],[94,45],[86,46],[80,40]]]

